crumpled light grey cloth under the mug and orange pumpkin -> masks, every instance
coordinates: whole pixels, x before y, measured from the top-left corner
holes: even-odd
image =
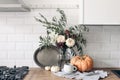
[[[83,72],[83,73],[76,71],[70,74],[67,74],[64,71],[60,71],[53,74],[56,76],[65,77],[69,79],[76,79],[76,80],[81,80],[81,79],[82,80],[99,80],[100,78],[105,78],[108,76],[108,72],[103,70],[95,70],[95,71]]]

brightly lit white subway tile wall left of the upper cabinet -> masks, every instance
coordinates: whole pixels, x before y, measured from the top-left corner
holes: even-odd
[[[64,9],[68,24],[79,23],[78,9]],[[46,28],[34,17],[39,13],[48,19],[58,16],[56,9],[33,9],[31,12],[0,12],[0,66],[38,67],[33,54],[39,47],[39,36],[46,36]]]

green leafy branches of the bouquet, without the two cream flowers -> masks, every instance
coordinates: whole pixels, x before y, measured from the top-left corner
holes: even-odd
[[[80,54],[83,54],[83,47],[86,46],[86,39],[84,38],[84,32],[88,32],[89,29],[84,25],[74,25],[69,27],[68,30],[65,30],[65,27],[67,27],[67,18],[63,10],[60,10],[59,8],[57,11],[60,14],[60,18],[57,18],[56,16],[52,17],[52,21],[49,21],[44,15],[39,13],[40,17],[35,17],[36,21],[40,22],[44,27],[47,28],[47,36],[41,37],[40,36],[40,46],[50,46],[52,44],[57,44],[55,40],[56,36],[62,35],[65,37],[65,40],[68,38],[72,38],[75,40],[74,46],[77,48],[78,52]],[[53,34],[53,37],[51,35]],[[54,43],[53,43],[53,42]],[[63,52],[66,51],[66,49],[69,47],[66,45],[66,42],[63,44],[58,44],[59,46],[62,45]],[[58,46],[58,47],[59,47]],[[74,47],[72,46],[72,47]]]

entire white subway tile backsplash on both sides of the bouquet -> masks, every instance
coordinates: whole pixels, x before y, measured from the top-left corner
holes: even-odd
[[[64,9],[68,24],[79,23],[78,9]],[[39,36],[46,30],[35,21],[34,16],[42,13],[47,18],[58,15],[56,9],[37,9],[31,12],[0,13],[0,65],[37,67],[33,60],[34,51],[39,46]],[[88,26],[85,34],[85,53],[92,56],[95,67],[120,67],[120,27]]]

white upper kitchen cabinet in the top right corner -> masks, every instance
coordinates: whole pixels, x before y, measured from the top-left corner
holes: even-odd
[[[120,24],[120,0],[84,0],[83,24]]]

